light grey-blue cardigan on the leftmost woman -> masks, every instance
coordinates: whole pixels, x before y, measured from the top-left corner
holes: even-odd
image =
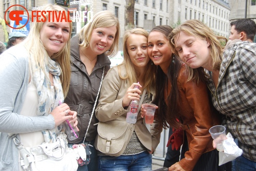
[[[28,52],[20,43],[0,56],[0,170],[18,170],[18,149],[8,133],[28,133],[55,127],[51,114],[36,117],[19,115],[28,83]]]

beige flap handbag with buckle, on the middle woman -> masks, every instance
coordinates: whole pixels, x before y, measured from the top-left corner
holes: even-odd
[[[142,93],[139,110],[145,96]],[[129,143],[136,124],[127,123],[126,120],[110,120],[98,123],[98,135],[95,139],[95,148],[109,156],[120,156]]]

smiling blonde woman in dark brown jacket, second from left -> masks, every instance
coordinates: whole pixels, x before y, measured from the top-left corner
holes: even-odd
[[[69,140],[69,143],[70,145],[82,143],[86,136],[84,143],[92,145],[90,146],[92,152],[90,163],[79,166],[78,170],[97,171],[97,151],[93,145],[97,135],[95,124],[98,120],[94,113],[87,135],[86,131],[102,72],[104,71],[105,76],[110,69],[111,62],[108,56],[114,56],[118,52],[119,35],[119,21],[115,15],[110,11],[100,11],[71,39],[71,82],[65,103],[78,112],[80,132],[79,137]]]

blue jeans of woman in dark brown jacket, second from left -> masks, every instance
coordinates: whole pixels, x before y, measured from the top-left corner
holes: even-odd
[[[79,142],[79,143],[82,143]],[[90,163],[88,165],[79,166],[77,171],[98,171],[98,153],[94,147],[94,140],[93,141],[84,141],[86,144],[91,144],[90,150],[92,154],[90,155]]]

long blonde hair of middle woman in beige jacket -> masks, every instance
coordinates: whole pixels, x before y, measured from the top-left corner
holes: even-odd
[[[136,29],[131,29],[131,30],[125,31],[125,33],[123,35],[123,62],[120,65],[125,65],[127,75],[125,77],[123,77],[121,75],[121,69],[120,69],[119,65],[117,67],[118,67],[119,77],[124,80],[125,79],[129,80],[130,85],[137,82],[136,71],[134,69],[131,58],[128,54],[127,44],[126,44],[127,39],[129,38],[129,36],[131,34],[142,35],[147,38],[148,32],[145,31],[144,29],[136,28]],[[156,84],[156,81],[155,81],[156,66],[154,64],[152,65],[151,62],[149,61],[147,63],[146,68],[147,69],[145,70],[144,77],[142,77],[143,82],[144,82],[144,87],[148,94],[152,93],[155,95],[155,93],[152,91],[152,88],[155,88],[155,84]]]

